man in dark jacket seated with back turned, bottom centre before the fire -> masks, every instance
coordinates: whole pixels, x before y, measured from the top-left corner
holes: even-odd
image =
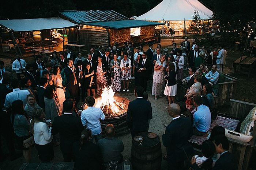
[[[120,169],[123,162],[124,144],[120,139],[114,138],[115,129],[113,124],[108,124],[105,128],[106,138],[99,139],[98,146],[102,153],[103,170],[109,167],[110,162],[113,162],[117,169]]]

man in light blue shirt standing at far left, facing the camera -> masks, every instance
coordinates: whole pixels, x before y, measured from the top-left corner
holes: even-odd
[[[20,58],[19,53],[15,53],[16,60],[12,63],[12,70],[16,71],[17,79],[20,80],[20,73],[26,72],[25,66],[26,62],[25,60]]]

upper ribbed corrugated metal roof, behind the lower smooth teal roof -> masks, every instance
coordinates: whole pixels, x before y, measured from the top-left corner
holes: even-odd
[[[129,18],[117,13],[113,10],[104,11],[59,11],[61,15],[75,21],[78,24],[97,21],[118,21],[128,20]]]

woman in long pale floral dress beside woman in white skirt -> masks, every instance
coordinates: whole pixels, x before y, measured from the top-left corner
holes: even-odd
[[[152,95],[155,95],[155,100],[157,100],[157,96],[162,96],[163,90],[165,88],[165,58],[166,55],[162,54],[161,58],[157,60],[154,66]]]

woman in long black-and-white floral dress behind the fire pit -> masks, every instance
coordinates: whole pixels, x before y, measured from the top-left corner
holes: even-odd
[[[121,80],[120,80],[120,62],[117,60],[117,54],[114,54],[113,60],[110,62],[110,69],[112,72],[111,86],[113,91],[121,91]]]

